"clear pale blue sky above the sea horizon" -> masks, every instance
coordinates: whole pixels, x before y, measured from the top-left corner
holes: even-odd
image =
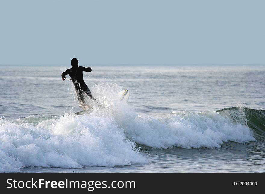
[[[265,1],[0,1],[0,64],[265,64]]]

